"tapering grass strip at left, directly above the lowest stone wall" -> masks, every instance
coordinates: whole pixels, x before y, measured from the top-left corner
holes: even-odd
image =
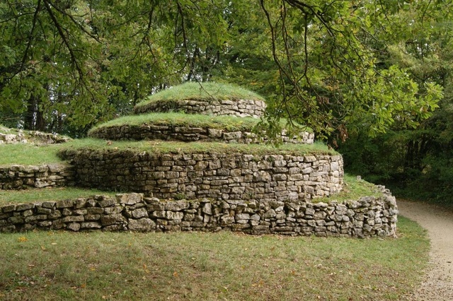
[[[0,190],[0,206],[10,203],[61,201],[66,199],[77,199],[84,196],[93,196],[96,194],[114,196],[115,192],[76,187]]]

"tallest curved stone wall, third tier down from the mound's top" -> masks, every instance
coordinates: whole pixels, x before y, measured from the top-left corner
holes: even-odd
[[[161,199],[292,201],[343,186],[340,155],[149,154],[66,151],[82,187],[143,192]]]

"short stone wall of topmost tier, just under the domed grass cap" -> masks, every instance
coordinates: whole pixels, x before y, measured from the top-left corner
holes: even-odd
[[[174,100],[151,102],[147,105],[134,107],[135,114],[147,112],[185,112],[187,114],[229,115],[238,117],[259,118],[265,110],[263,100]]]

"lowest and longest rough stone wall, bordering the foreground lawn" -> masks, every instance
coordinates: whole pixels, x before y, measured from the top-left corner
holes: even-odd
[[[302,201],[161,201],[142,194],[92,196],[0,208],[0,231],[218,231],[250,234],[372,237],[395,235],[394,196],[347,203]]]

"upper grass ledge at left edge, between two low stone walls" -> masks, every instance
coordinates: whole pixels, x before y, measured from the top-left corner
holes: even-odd
[[[62,162],[57,156],[63,144],[34,146],[27,143],[0,145],[0,165],[40,165]]]

